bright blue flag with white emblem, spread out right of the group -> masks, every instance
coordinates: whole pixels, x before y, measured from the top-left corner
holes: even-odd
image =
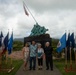
[[[61,52],[66,47],[66,33],[61,37],[57,45],[57,52]]]

